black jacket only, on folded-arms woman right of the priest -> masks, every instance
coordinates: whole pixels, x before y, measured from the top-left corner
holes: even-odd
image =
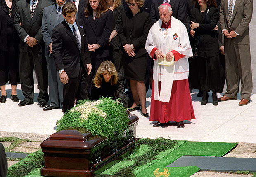
[[[191,10],[190,19],[195,23],[199,23],[199,27],[194,29],[195,44],[199,40],[198,55],[212,57],[219,54],[218,32],[213,31],[219,19],[218,9],[211,7],[207,15],[206,13],[207,9],[204,13],[201,13],[198,8],[194,8]]]

